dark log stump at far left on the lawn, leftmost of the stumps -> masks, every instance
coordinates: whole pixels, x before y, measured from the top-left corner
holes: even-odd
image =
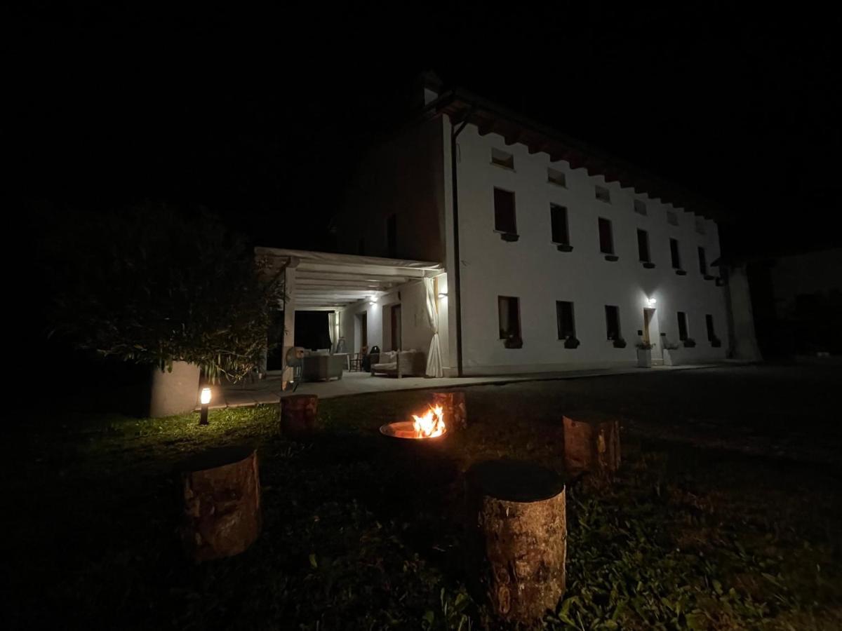
[[[240,554],[260,533],[260,477],[251,447],[210,449],[179,468],[184,502],[179,528],[195,563]]]

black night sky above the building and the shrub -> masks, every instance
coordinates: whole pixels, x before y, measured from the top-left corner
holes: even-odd
[[[326,247],[355,157],[434,69],[724,205],[733,251],[839,243],[839,19],[401,6],[12,11],[5,193],[104,212],[200,204],[260,243]]]

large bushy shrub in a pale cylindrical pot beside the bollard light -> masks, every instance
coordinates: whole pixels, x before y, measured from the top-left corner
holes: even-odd
[[[280,274],[205,213],[164,204],[75,217],[51,236],[53,332],[152,372],[149,416],[192,411],[200,378],[259,365]],[[200,377],[201,375],[201,377]]]

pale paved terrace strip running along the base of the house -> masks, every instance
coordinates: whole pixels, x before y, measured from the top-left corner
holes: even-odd
[[[320,399],[331,399],[337,396],[362,395],[371,392],[392,392],[396,390],[425,390],[428,388],[462,388],[482,384],[509,384],[516,381],[548,381],[553,379],[583,379],[587,377],[604,377],[615,374],[640,374],[650,372],[662,373],[666,370],[704,369],[722,365],[714,363],[690,364],[686,366],[653,366],[651,369],[622,368],[622,369],[591,369],[569,370],[557,373],[530,374],[498,374],[486,377],[443,377],[428,379],[426,377],[395,377],[371,376],[369,373],[345,371],[342,379],[333,381],[305,382],[298,386],[295,393],[281,390],[280,376],[270,376],[267,379],[244,382],[236,385],[226,385],[218,392],[215,388],[213,402],[210,409],[224,407],[249,407],[259,404],[278,403],[283,397],[296,395],[318,395]]]

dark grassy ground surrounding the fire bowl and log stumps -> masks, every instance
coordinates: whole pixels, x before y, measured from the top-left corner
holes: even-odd
[[[568,591],[546,628],[842,628],[839,371],[747,367],[466,389],[470,427],[431,472],[383,422],[423,390],[319,403],[312,442],[277,406],[136,420],[18,420],[5,444],[6,628],[505,628],[466,565],[461,471],[563,472],[561,415],[622,419],[613,485],[568,480]],[[258,448],[264,530],[193,566],[173,465]]]

